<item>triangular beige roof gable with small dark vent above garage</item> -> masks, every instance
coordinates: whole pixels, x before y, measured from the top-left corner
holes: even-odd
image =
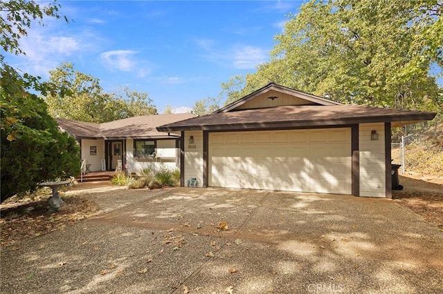
[[[278,106],[331,106],[341,103],[293,90],[274,83],[268,84],[251,94],[234,101],[214,113],[230,112],[237,110],[272,108]]]

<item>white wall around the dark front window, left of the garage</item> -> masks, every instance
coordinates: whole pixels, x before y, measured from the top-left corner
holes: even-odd
[[[132,175],[142,175],[143,170],[150,168],[156,170],[161,166],[166,166],[170,170],[179,168],[177,165],[177,148],[175,140],[158,140],[156,148],[156,160],[138,161],[134,158],[134,139],[126,140],[126,166],[127,171]]]

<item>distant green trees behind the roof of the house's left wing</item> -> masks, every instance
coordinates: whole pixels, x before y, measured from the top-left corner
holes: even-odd
[[[127,87],[117,93],[103,92],[99,79],[75,70],[71,63],[50,74],[57,91],[46,95],[46,104],[53,117],[101,123],[157,113],[147,93]]]

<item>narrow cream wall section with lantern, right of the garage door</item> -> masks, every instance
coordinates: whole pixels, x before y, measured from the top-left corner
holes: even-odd
[[[379,139],[371,140],[371,130]],[[359,125],[360,196],[386,197],[386,155],[384,124]]]

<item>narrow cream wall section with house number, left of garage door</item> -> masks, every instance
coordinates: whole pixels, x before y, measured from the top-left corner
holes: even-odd
[[[189,143],[189,137],[194,137],[194,143]],[[185,143],[185,183],[195,177],[199,187],[203,184],[203,131],[187,131],[182,138]]]

